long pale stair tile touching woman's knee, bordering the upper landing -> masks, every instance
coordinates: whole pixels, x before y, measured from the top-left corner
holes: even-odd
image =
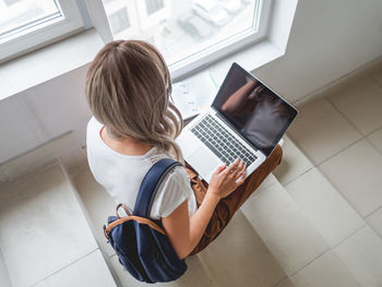
[[[331,247],[366,225],[332,183],[286,137],[284,158],[274,171],[301,214]]]

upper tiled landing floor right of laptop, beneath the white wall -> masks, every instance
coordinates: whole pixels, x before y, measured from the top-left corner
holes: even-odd
[[[348,203],[382,206],[382,63],[303,105],[289,134]]]

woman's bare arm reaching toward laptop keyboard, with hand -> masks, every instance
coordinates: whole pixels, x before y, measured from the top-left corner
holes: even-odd
[[[195,248],[219,200],[229,195],[244,178],[246,166],[242,162],[237,160],[227,168],[222,166],[214,172],[206,195],[191,218],[187,200],[169,216],[162,218],[167,236],[180,259],[186,258]]]

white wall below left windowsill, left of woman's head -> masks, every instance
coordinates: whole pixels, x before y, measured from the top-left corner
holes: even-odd
[[[70,167],[85,159],[81,147],[92,116],[84,97],[87,67],[0,101],[0,181],[59,156],[71,157],[62,158]],[[22,155],[31,150],[37,159]]]

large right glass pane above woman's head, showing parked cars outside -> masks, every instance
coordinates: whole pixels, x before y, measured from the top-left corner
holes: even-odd
[[[231,37],[254,32],[259,9],[259,0],[103,2],[115,39],[147,40],[160,50],[169,64]]]

